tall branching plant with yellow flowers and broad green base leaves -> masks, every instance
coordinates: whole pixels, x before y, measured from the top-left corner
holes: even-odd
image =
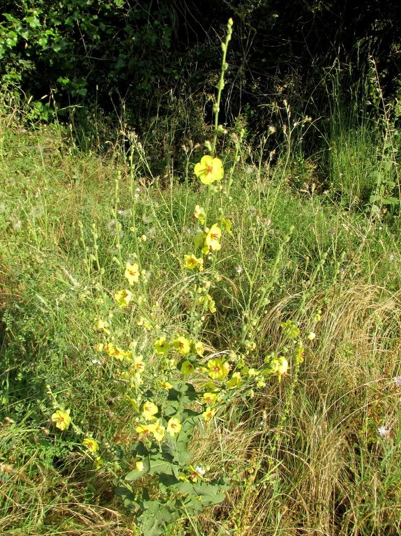
[[[264,387],[270,378],[285,378],[291,371],[290,365],[295,361],[298,366],[303,355],[301,331],[291,320],[283,322],[282,326],[289,342],[285,351],[264,355],[264,350],[257,348],[255,342],[257,320],[277,281],[280,255],[291,232],[285,237],[273,262],[271,283],[259,289],[257,303],[252,304],[252,311],[244,320],[236,341],[227,343],[228,348],[213,351],[204,336],[208,333],[208,319],[215,315],[218,322],[221,304],[216,290],[222,281],[218,271],[219,255],[225,251],[235,232],[232,220],[225,217],[227,207],[223,201],[220,202],[218,216],[213,216],[211,209],[213,195],[218,192],[227,195],[223,191],[223,184],[227,181],[223,159],[215,156],[215,149],[218,134],[222,131],[218,125],[218,112],[231,35],[230,20],[227,38],[222,43],[223,61],[214,105],[213,141],[209,142],[208,154],[202,156],[194,168],[195,177],[206,186],[202,187],[206,192],[205,198],[199,200],[193,209],[192,225],[195,227],[190,229],[193,244],[184,250],[187,253],[183,256],[176,255],[179,269],[188,280],[185,296],[188,305],[183,313],[183,322],[167,326],[160,321],[157,299],[152,303],[150,292],[148,295],[146,291],[148,276],[139,247],[145,240],[137,231],[133,203],[131,229],[135,255],[130,254],[129,258],[135,262],[123,262],[121,247],[117,248],[121,290],[110,293],[114,297],[114,309],[102,310],[96,323],[100,339],[96,350],[104,356],[107,364],[111,362],[109,370],[123,383],[123,403],[130,408],[134,423],[135,443],[130,446],[130,454],[134,456],[130,466],[132,470],[121,478],[118,493],[135,512],[136,526],[143,530],[145,536],[167,534],[183,514],[196,514],[204,507],[225,499],[223,491],[229,487],[227,480],[209,477],[202,466],[195,465],[202,460],[192,459],[189,447],[195,430],[199,426],[214,424],[216,417],[235,396],[246,400],[255,389]],[[232,177],[233,169],[229,177]],[[133,193],[133,185],[130,188]],[[229,203],[228,196],[225,202]],[[116,240],[119,239],[116,237]],[[98,273],[100,288],[103,288],[99,264]],[[129,288],[125,288],[127,281]],[[109,304],[107,292],[102,292],[103,304]],[[125,343],[119,342],[124,334],[121,329],[114,329],[114,315],[126,320]],[[137,336],[138,332],[143,334],[143,344],[139,342],[141,337]],[[251,366],[253,358],[257,358],[255,366]],[[65,416],[56,413],[53,420],[56,426],[60,424],[68,428]],[[97,442],[91,438],[85,438],[83,444],[91,454],[98,451]],[[106,463],[103,459],[102,462]],[[157,489],[159,494],[155,491]],[[149,496],[152,496],[151,500]]]

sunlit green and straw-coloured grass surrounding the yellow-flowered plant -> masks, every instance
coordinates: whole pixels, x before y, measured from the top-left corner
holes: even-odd
[[[9,110],[3,118],[1,533],[129,535],[133,515],[115,488],[132,469],[135,423],[116,363],[95,350],[99,275],[107,296],[123,284],[112,258],[119,251],[133,258],[134,225],[147,237],[139,253],[158,322],[172,334],[184,329],[193,277],[181,259],[204,194],[185,163],[183,177],[151,177],[146,151],[129,165],[118,147],[107,156],[79,151],[58,124],[23,127]],[[401,375],[400,227],[385,207],[369,211],[367,170],[377,151],[367,149],[379,136],[363,128],[336,135],[326,189],[312,187],[310,163],[303,184],[293,180],[299,161],[290,162],[289,151],[275,165],[256,156],[250,164],[242,153],[226,207],[234,234],[218,259],[217,311],[202,340],[208,353],[238,340],[260,289],[271,285],[253,334],[254,359],[285,351],[280,323],[292,319],[305,361],[253,397],[234,398],[195,435],[193,459],[231,486],[221,505],[176,522],[176,536],[401,535],[401,387],[393,380]],[[211,214],[219,203],[212,198]],[[317,311],[316,338],[307,343]],[[119,338],[135,338],[156,370],[151,337],[114,315]],[[105,466],[93,464],[77,431],[54,428],[54,397],[101,442]]]

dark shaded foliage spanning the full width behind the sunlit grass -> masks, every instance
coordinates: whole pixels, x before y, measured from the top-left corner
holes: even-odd
[[[378,0],[3,1],[0,76],[33,96],[40,119],[50,119],[52,99],[61,111],[85,102],[114,112],[125,103],[133,127],[140,128],[152,116],[167,114],[156,95],[164,96],[166,106],[167,94],[186,100],[199,91],[214,92],[220,25],[234,17],[221,119],[231,122],[245,111],[260,132],[280,123],[271,104],[283,98],[295,114],[326,114],[321,80],[335,59],[349,89],[365,76],[361,60],[371,54],[384,91],[397,96],[398,7],[391,1],[383,10]],[[209,121],[211,106],[205,112]],[[315,141],[310,136],[310,147]]]

